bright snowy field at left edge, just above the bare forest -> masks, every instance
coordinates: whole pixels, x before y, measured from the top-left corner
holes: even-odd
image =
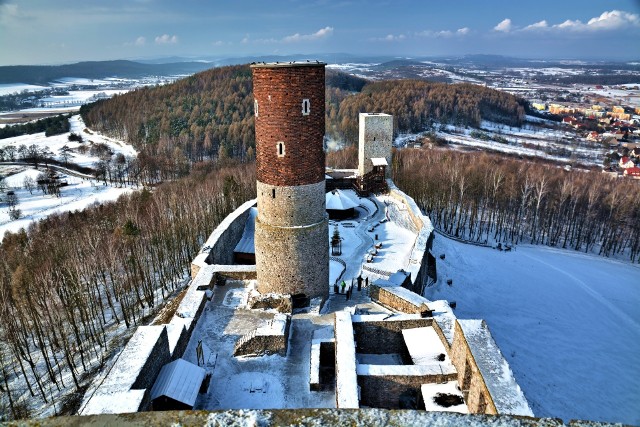
[[[0,168],[2,168],[0,166]],[[16,167],[13,167],[16,170]],[[69,185],[60,189],[60,197],[43,195],[39,189],[33,194],[24,188],[24,179],[31,177],[34,181],[42,170],[30,167],[19,167],[20,172],[6,178],[9,189],[18,196],[17,209],[22,215],[17,220],[11,220],[6,204],[0,205],[0,241],[5,232],[16,232],[21,228],[28,228],[32,221],[37,221],[53,213],[82,210],[87,206],[115,200],[122,194],[133,191],[130,188],[115,188],[104,186],[96,180],[81,179],[75,176],[61,174],[61,180]],[[0,169],[0,172],[2,169]]]

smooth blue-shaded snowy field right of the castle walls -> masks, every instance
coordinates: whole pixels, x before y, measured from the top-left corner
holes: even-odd
[[[536,416],[640,424],[640,266],[441,235],[433,253],[446,258],[425,296],[486,319]]]

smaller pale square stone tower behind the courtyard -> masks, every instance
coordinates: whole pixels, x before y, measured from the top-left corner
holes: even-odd
[[[391,141],[393,140],[393,116],[384,113],[360,113],[358,143],[358,175],[373,170],[373,158],[387,160],[386,174],[391,171]]]

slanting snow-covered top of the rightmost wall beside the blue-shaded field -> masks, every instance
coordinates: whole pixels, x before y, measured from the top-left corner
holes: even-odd
[[[533,416],[509,364],[484,320],[458,320],[473,358],[500,414]]]

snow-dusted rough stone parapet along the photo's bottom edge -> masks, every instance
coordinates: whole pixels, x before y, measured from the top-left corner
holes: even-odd
[[[69,425],[117,425],[117,426],[223,426],[260,425],[262,427],[299,425],[348,425],[370,427],[373,425],[473,425],[495,427],[606,427],[611,424],[573,420],[564,424],[559,418],[530,418],[511,415],[466,415],[452,412],[390,411],[387,409],[272,409],[229,411],[166,411],[139,412],[119,415],[90,415],[50,417],[45,419],[8,422],[7,426],[59,427]]]

